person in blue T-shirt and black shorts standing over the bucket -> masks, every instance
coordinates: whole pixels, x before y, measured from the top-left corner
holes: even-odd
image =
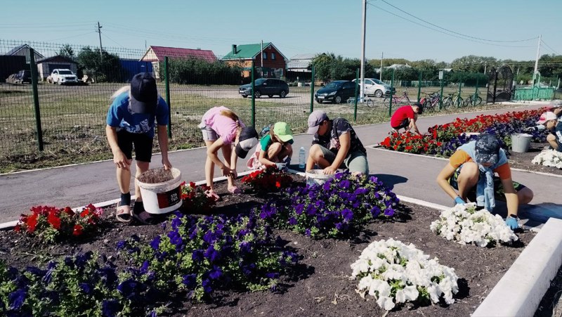
[[[152,140],[155,121],[158,130],[158,145],[162,153],[164,169],[171,169],[168,160],[168,125],[169,109],[166,101],[158,95],[155,79],[147,72],[137,74],[131,80],[131,86],[124,86],[112,95],[112,104],[107,111],[105,134],[113,153],[113,162],[117,167],[117,183],[121,190],[121,201],[117,204],[117,220],[129,222],[131,214],[131,162],[133,145],[136,155],[136,173],[140,176],[148,171],[152,157]],[[135,185],[136,201],[134,214],[144,212],[141,190]]]

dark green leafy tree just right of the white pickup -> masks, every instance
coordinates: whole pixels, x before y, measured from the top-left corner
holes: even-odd
[[[78,53],[78,67],[96,82],[122,82],[119,56],[102,49],[100,51],[85,46]]]

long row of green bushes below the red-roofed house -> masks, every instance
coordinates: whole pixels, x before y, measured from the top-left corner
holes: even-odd
[[[164,74],[164,62],[159,67],[160,78]],[[242,67],[228,65],[221,61],[208,62],[200,58],[169,59],[168,74],[170,82],[177,84],[240,84]]]

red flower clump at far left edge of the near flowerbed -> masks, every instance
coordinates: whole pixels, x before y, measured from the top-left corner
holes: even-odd
[[[80,236],[84,232],[93,231],[100,221],[103,209],[91,204],[80,212],[74,212],[70,207],[36,206],[31,208],[31,212],[32,214],[22,214],[13,230],[37,235],[46,242],[55,242],[60,237]]]

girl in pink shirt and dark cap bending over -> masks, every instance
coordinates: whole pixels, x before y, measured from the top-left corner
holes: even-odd
[[[199,128],[202,131],[205,145],[207,145],[205,180],[207,186],[211,188],[207,195],[215,200],[220,199],[213,186],[215,165],[221,169],[223,176],[226,176],[228,191],[233,194],[242,193],[234,183],[237,177],[237,159],[238,157],[245,158],[248,151],[258,143],[258,132],[253,127],[246,127],[232,110],[223,106],[214,107],[205,112]],[[224,162],[219,160],[218,150],[222,150]]]

